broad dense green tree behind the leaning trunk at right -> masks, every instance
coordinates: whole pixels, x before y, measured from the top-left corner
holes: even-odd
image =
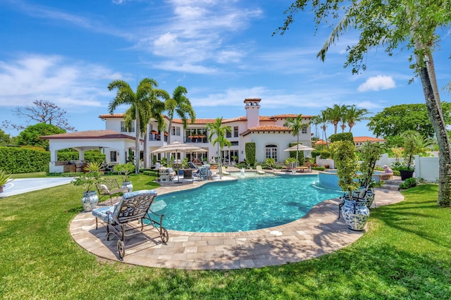
[[[451,124],[451,104],[442,103],[443,118]],[[416,130],[424,137],[432,138],[434,130],[426,104],[400,104],[386,107],[369,118],[368,127],[374,135],[387,139],[406,130]]]

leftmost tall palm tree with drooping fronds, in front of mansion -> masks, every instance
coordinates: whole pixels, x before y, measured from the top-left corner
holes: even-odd
[[[140,173],[140,126],[143,125],[140,116],[145,115],[144,111],[149,108],[150,103],[157,95],[163,94],[162,90],[154,89],[154,87],[158,87],[158,83],[150,78],[141,80],[137,86],[136,93],[123,80],[113,80],[108,85],[109,91],[117,89],[116,97],[109,103],[109,113],[113,114],[116,108],[123,104],[130,104],[128,118],[130,118],[130,115],[133,115],[132,111],[135,112],[135,173],[137,174]],[[127,120],[126,123],[131,127],[131,120]]]

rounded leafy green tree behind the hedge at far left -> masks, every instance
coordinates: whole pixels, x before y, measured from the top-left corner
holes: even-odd
[[[39,139],[39,137],[42,137],[43,135],[57,135],[58,133],[66,133],[66,130],[61,129],[56,125],[37,123],[36,125],[28,126],[19,133],[17,144],[23,146],[41,146],[48,150],[49,140]]]

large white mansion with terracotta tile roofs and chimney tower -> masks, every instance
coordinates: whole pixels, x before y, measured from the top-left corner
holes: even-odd
[[[287,118],[296,118],[299,114],[284,114],[263,116],[260,115],[261,99],[245,99],[245,116],[223,119],[223,125],[230,126],[231,131],[227,133],[226,138],[232,146],[223,149],[223,163],[232,163],[233,161],[243,161],[245,159],[245,144],[253,142],[256,146],[256,161],[263,162],[266,158],[274,158],[276,162],[283,162],[290,155],[288,151],[283,151],[290,146],[290,143],[297,142],[297,137],[292,135],[292,130],[285,127]],[[135,151],[135,130],[130,132],[125,129],[122,113],[113,115],[99,115],[99,118],[105,120],[105,130],[89,130],[83,132],[70,132],[60,135],[51,135],[42,137],[49,139],[51,163],[50,172],[62,172],[60,166],[55,164],[57,153],[60,149],[73,148],[79,151],[80,160],[84,159],[85,151],[89,149],[101,149],[106,154],[108,163],[125,163],[130,151]],[[309,124],[311,115],[302,115],[302,123]],[[215,118],[197,119],[190,123],[186,129],[180,119],[174,119],[171,130],[171,142],[183,142],[192,144],[205,149],[204,153],[185,154],[178,152],[175,159],[183,159],[185,156],[201,160],[210,161],[218,156],[217,145],[213,146],[208,140],[209,132],[206,130],[206,124],[214,123]],[[169,120],[165,119],[166,127]],[[153,156],[157,160],[164,154],[152,154],[152,151],[167,144],[168,132],[159,132],[156,121],[151,120],[147,125],[147,159],[146,168],[152,166]],[[311,130],[308,125],[299,133],[299,143],[311,146]],[[144,139],[140,140],[140,155],[143,158]],[[305,151],[309,156],[309,151]],[[172,154],[175,156],[175,152]],[[234,159],[235,158],[235,159]],[[236,160],[236,158],[238,158]],[[62,168],[62,167],[61,167]]]

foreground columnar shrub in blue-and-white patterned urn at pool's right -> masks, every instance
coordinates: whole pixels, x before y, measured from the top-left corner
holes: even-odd
[[[362,231],[368,221],[369,209],[366,207],[365,199],[354,196],[359,188],[359,182],[356,181],[359,169],[357,149],[351,141],[333,142],[330,149],[333,151],[333,160],[337,168],[338,186],[344,193],[344,201],[340,204],[342,215],[350,230]]]

